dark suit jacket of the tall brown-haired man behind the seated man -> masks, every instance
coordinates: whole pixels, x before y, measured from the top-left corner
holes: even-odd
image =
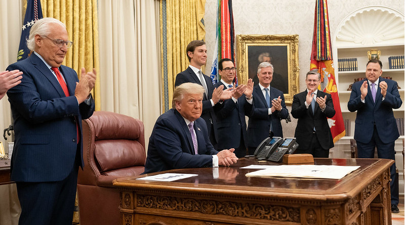
[[[218,133],[217,133],[217,118],[215,116],[215,112],[214,112],[214,108],[211,104],[210,99],[212,98],[212,93],[214,91],[214,85],[212,84],[212,80],[210,77],[206,76],[203,74],[204,79],[206,80],[207,83],[207,89],[208,89],[208,96],[206,96],[204,94],[204,98],[203,98],[203,114],[201,114],[201,118],[203,118],[206,123],[207,123],[207,129],[208,129],[208,133],[210,136],[211,133],[211,125],[214,127],[214,137],[215,137],[215,141],[218,142]],[[186,70],[180,72],[179,74],[177,74],[176,76],[176,81],[174,83],[174,86],[178,86],[182,83],[198,83],[199,85],[203,85],[201,84],[201,82],[199,81],[197,75],[195,75],[194,71],[190,68],[187,67]],[[217,103],[215,106],[215,108],[217,107],[222,107],[221,104]]]

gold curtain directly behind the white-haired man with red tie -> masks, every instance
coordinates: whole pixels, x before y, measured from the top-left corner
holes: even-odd
[[[82,67],[86,68],[86,71],[96,68],[97,79],[92,94],[96,111],[99,111],[100,67],[97,0],[41,0],[41,6],[44,17],[53,17],[66,25],[69,40],[73,41],[73,46],[67,51],[63,64],[73,68],[79,78],[82,74]]]

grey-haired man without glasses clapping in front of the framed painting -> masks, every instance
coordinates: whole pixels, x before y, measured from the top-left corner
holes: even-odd
[[[253,155],[257,146],[269,137],[270,131],[274,136],[282,137],[280,119],[286,119],[289,114],[284,94],[270,86],[273,70],[273,65],[268,62],[260,63],[257,69],[259,85],[253,88],[253,110],[249,115],[248,124],[250,155]]]

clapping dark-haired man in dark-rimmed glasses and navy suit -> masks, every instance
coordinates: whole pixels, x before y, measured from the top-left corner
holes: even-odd
[[[236,68],[230,59],[222,59],[218,62],[218,73],[221,81],[214,87],[224,89],[234,88]],[[225,100],[223,107],[215,110],[218,127],[218,149],[234,148],[236,157],[244,157],[247,150],[247,131],[245,114],[249,115],[253,104],[253,81],[248,84],[240,84],[235,88],[232,99]]]

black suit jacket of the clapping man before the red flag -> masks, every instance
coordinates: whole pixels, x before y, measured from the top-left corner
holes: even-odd
[[[291,106],[291,115],[298,119],[297,127],[295,128],[295,138],[300,145],[300,149],[308,150],[311,145],[311,140],[308,139],[308,134],[313,132],[313,127],[316,129],[316,137],[322,149],[330,149],[333,145],[331,129],[329,128],[328,118],[335,115],[331,94],[318,90],[316,97],[323,98],[327,96],[325,110],[319,108],[319,104],[315,102],[315,113],[312,112],[311,105],[308,109],[305,106],[307,98],[307,90],[298,93],[293,97],[293,105]]]

